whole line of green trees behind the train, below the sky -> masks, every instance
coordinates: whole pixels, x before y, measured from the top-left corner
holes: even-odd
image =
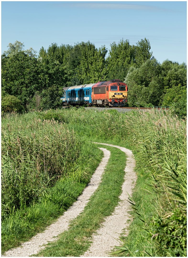
[[[23,43],[9,43],[2,55],[2,111],[48,109],[61,106],[63,87],[120,79],[129,87],[129,106],[175,106],[179,114],[186,110],[186,64],[165,60],[157,62],[148,39],[136,45],[129,40],[113,42],[99,49],[88,42],[74,46],[52,43],[39,55]]]

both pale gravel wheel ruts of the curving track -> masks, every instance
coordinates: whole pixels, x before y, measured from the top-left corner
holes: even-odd
[[[114,246],[119,246],[117,241],[120,234],[128,235],[127,220],[129,219],[130,204],[128,203],[128,193],[132,195],[132,189],[136,183],[136,173],[134,172],[135,160],[131,150],[123,147],[115,146],[112,144],[100,143],[112,147],[119,148],[127,155],[127,165],[125,167],[124,183],[122,185],[122,194],[120,196],[121,201],[115,208],[114,213],[108,216],[106,220],[101,223],[101,227],[97,230],[97,234],[92,236],[93,243],[90,250],[84,253],[83,257],[106,257],[110,256],[109,252]],[[68,226],[71,220],[76,218],[84,209],[88,203],[89,198],[95,192],[101,182],[101,176],[105,170],[105,166],[108,162],[110,151],[104,148],[100,148],[104,152],[104,158],[97,167],[93,174],[90,183],[84,189],[82,195],[80,195],[77,201],[66,211],[64,214],[53,224],[51,224],[44,232],[38,233],[32,237],[30,241],[25,242],[21,247],[14,248],[4,253],[2,256],[8,257],[28,257],[33,254],[37,254],[40,250],[45,248],[45,244],[51,241],[55,241],[58,235],[64,230],[68,230]],[[127,193],[128,192],[128,193]],[[124,230],[123,230],[124,229]]]

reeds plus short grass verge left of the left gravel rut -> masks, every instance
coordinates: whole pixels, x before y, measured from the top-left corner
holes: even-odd
[[[2,252],[26,241],[81,194],[101,151],[63,122],[35,113],[2,118]]]

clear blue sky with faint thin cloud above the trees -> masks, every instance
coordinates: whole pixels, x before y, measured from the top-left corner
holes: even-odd
[[[39,52],[51,43],[150,41],[153,56],[187,63],[186,1],[2,1],[1,53],[16,40]]]

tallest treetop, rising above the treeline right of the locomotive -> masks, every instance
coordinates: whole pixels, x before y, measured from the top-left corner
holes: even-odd
[[[147,60],[152,60],[154,57],[152,56],[153,52],[150,52],[150,42],[148,39],[144,38],[136,43],[136,57],[135,61],[138,66],[141,66]]]

